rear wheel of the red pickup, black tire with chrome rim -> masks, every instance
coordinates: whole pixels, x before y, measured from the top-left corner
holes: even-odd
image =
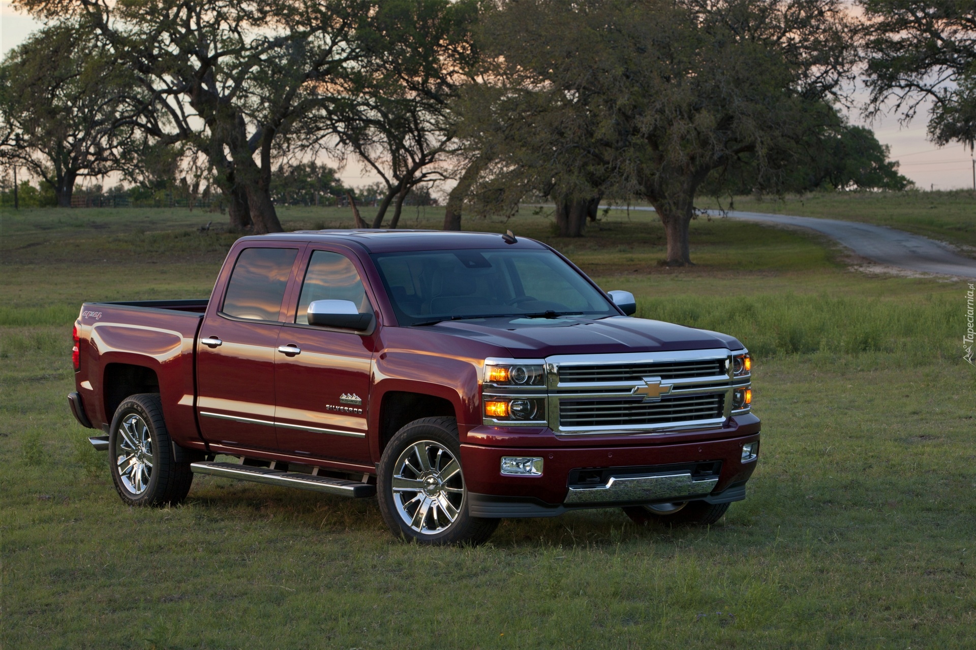
[[[145,439],[136,440],[135,452],[133,432]],[[115,409],[108,430],[108,468],[115,490],[130,506],[176,505],[186,498],[193,473],[188,462],[173,459],[173,444],[158,394],[130,396]]]

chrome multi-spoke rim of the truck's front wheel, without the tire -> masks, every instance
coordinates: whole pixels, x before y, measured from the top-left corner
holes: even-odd
[[[407,447],[393,464],[393,503],[403,522],[422,535],[450,526],[465,503],[465,478],[451,450],[433,440]]]

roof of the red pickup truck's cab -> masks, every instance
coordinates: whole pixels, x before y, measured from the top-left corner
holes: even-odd
[[[516,237],[508,244],[498,233],[472,233],[443,230],[297,230],[290,233],[255,235],[247,240],[288,240],[296,242],[344,242],[356,244],[367,252],[453,249],[545,249],[539,242]]]

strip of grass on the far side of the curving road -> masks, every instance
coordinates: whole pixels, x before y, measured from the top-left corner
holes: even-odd
[[[701,207],[716,208],[713,199],[700,199]],[[782,199],[735,197],[735,210],[797,214],[864,221],[924,235],[963,248],[976,247],[976,193],[946,192],[818,192]],[[728,209],[727,199],[721,208]]]

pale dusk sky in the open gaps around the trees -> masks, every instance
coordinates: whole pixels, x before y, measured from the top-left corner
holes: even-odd
[[[0,56],[6,55],[26,38],[27,34],[41,26],[30,17],[19,14],[10,0],[0,0]],[[927,122],[924,111],[908,125],[899,124],[895,116],[886,116],[866,124],[855,114],[852,122],[865,124],[874,129],[878,141],[891,147],[891,158],[900,164],[900,172],[915,181],[921,189],[948,190],[972,187],[973,162],[969,151],[961,144],[936,147],[926,138]],[[379,180],[376,174],[362,173],[359,166],[351,163],[340,172],[346,186],[358,186]]]

